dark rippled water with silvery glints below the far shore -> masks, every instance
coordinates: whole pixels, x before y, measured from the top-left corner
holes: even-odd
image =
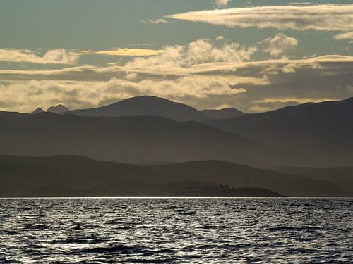
[[[353,263],[353,199],[0,199],[0,263]]]

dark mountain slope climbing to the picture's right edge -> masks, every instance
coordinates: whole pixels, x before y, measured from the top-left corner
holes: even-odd
[[[256,140],[271,149],[308,153],[312,164],[352,164],[353,98],[304,103],[205,123]]]

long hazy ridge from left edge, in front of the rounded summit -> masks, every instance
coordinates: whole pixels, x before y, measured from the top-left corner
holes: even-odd
[[[218,159],[249,165],[290,165],[294,159],[292,153],[271,151],[245,137],[198,122],[54,113],[11,116],[0,118],[0,154],[75,154],[124,163]]]

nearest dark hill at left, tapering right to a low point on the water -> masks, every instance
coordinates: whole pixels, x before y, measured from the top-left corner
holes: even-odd
[[[0,196],[280,196],[261,188],[169,179],[136,165],[80,156],[0,156]]]

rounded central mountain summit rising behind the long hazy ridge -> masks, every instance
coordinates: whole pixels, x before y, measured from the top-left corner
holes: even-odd
[[[110,104],[109,106],[102,106],[98,108],[74,110],[69,113],[81,116],[160,116],[163,118],[170,118],[177,121],[190,120],[206,120],[208,119],[203,113],[186,106],[183,103],[175,103],[167,99],[162,99],[155,96],[140,96],[119,101]]]

